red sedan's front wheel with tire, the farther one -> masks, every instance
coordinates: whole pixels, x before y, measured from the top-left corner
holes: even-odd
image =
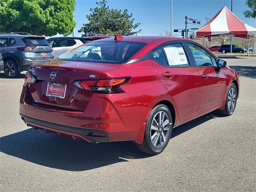
[[[226,102],[224,110],[218,110],[220,114],[223,116],[230,116],[233,114],[236,108],[236,100],[237,100],[237,89],[234,83],[230,84],[228,89],[228,93],[226,95]]]

